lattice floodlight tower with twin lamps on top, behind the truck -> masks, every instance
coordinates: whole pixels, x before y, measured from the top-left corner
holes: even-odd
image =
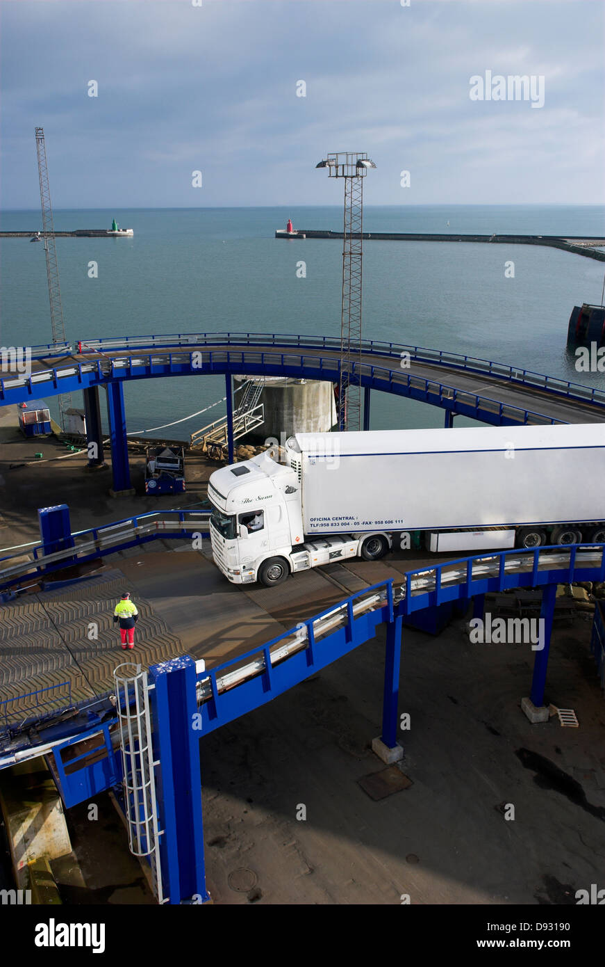
[[[343,302],[341,308],[341,374],[339,426],[361,429],[361,388],[353,369],[361,364],[362,257],[364,178],[375,164],[365,152],[339,152],[319,161],[330,178],[344,178]]]

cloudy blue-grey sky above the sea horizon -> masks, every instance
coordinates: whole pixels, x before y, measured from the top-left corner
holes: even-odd
[[[404,4],[0,0],[0,208],[605,203],[604,0]]]

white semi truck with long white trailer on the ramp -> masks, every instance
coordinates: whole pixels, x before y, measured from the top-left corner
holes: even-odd
[[[209,479],[212,555],[234,584],[419,535],[431,551],[605,542],[605,424],[297,433],[276,455]]]

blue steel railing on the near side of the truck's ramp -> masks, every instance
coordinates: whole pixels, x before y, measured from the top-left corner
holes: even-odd
[[[197,675],[203,731],[274,698],[373,637],[394,617],[486,592],[605,580],[605,544],[484,553],[408,571],[355,592],[257,648]]]

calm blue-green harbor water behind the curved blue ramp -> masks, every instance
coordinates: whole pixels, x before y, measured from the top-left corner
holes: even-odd
[[[69,340],[205,332],[340,335],[342,241],[274,238],[289,218],[295,229],[342,230],[338,204],[54,214],[57,230],[110,227],[114,217],[121,227],[134,229],[133,238],[57,240]],[[37,230],[41,216],[6,211],[0,228]],[[605,208],[366,205],[364,231],[595,236],[605,234]],[[42,245],[2,239],[0,257],[2,344],[51,341]],[[505,274],[510,262],[512,278]],[[565,346],[571,309],[600,304],[603,274],[603,263],[558,249],[368,241],[364,337],[603,386],[603,373],[577,371]],[[182,420],[219,400],[224,390],[222,377],[129,383],[128,431]],[[187,440],[223,412],[224,404],[217,405],[162,432]],[[438,409],[422,403],[372,396],[372,428],[442,425],[442,420]]]

